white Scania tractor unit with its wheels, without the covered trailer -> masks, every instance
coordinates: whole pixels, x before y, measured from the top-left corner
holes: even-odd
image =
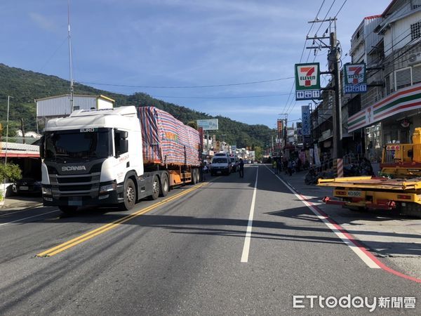
[[[168,192],[166,171],[144,173],[136,109],[78,110],[47,122],[40,144],[44,205],[120,206]],[[161,187],[161,179],[165,179]]]

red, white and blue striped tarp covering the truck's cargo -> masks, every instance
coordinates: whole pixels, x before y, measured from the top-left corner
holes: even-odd
[[[143,160],[154,164],[200,165],[200,136],[157,107],[139,107]]]

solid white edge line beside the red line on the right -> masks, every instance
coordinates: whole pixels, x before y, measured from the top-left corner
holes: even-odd
[[[274,173],[272,170],[270,170],[267,166],[266,168]],[[332,230],[335,235],[337,235],[342,242],[344,242],[347,246],[349,246],[349,248],[354,251],[354,253],[359,256],[359,258],[366,263],[366,265],[368,265],[369,268],[372,269],[380,269],[380,266],[377,265],[377,263],[375,263],[375,261],[373,261],[369,256],[367,256],[364,251],[362,251],[360,249],[360,247],[356,246],[354,244],[354,242],[352,242],[347,236],[345,236],[345,234],[343,234],[342,232],[340,232],[340,230],[338,230],[338,228],[335,227],[335,225],[333,225],[332,223],[330,223],[330,221],[326,218],[326,216],[323,216],[321,213],[319,213],[319,211],[317,211],[317,209],[312,205],[312,203],[308,202],[307,199],[305,199],[304,197],[302,197],[301,195],[298,194],[298,192],[296,192],[293,187],[291,187],[288,183],[286,183],[284,180],[282,180],[277,174],[274,173],[274,175],[276,176],[276,178],[278,178],[279,180],[281,180],[281,182],[288,187],[288,190],[290,190],[290,192],[293,192],[293,195],[295,195],[295,197],[298,197],[298,199],[300,199],[300,201],[302,203],[305,204],[305,206],[307,206],[310,210],[312,210],[312,212],[317,216],[317,218],[319,218],[323,223],[326,224],[326,226],[328,226],[328,228],[330,228],[330,230]]]

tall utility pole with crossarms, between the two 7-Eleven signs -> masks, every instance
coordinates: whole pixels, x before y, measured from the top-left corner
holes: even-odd
[[[333,107],[333,158],[342,159],[342,104],[340,98],[340,66],[339,56],[340,48],[338,46],[338,40],[336,38],[336,18],[328,18],[326,20],[314,20],[309,23],[317,22],[329,22],[328,29],[323,33],[323,36],[318,37],[317,34],[314,37],[307,37],[307,39],[313,40],[313,45],[316,41],[319,42],[318,46],[309,46],[307,49],[314,49],[316,53],[317,49],[328,48],[328,64],[329,72],[322,72],[332,74],[333,84],[335,85],[332,90],[335,91],[335,107]],[[332,30],[333,23],[333,30]],[[329,33],[329,37],[325,36]],[[324,39],[329,39],[329,44],[323,42]]]

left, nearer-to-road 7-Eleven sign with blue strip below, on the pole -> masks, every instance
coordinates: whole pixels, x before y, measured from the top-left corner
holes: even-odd
[[[295,64],[295,100],[320,98],[320,65]]]

